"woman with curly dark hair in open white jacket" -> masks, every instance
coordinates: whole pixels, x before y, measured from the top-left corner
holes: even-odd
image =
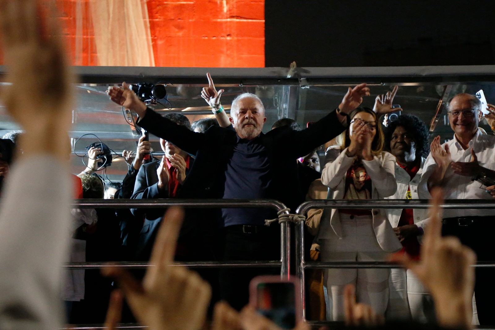
[[[385,130],[385,149],[396,157],[395,175],[397,191],[389,199],[418,199],[418,184],[425,157],[430,152],[430,134],[425,123],[413,115],[398,116]],[[420,240],[427,222],[425,209],[389,209],[389,221],[402,243],[399,253],[419,259]],[[420,239],[420,238],[419,238]],[[393,269],[390,277],[390,302],[387,316],[431,321],[432,301],[425,287],[410,271]],[[409,309],[407,308],[409,305]]]

